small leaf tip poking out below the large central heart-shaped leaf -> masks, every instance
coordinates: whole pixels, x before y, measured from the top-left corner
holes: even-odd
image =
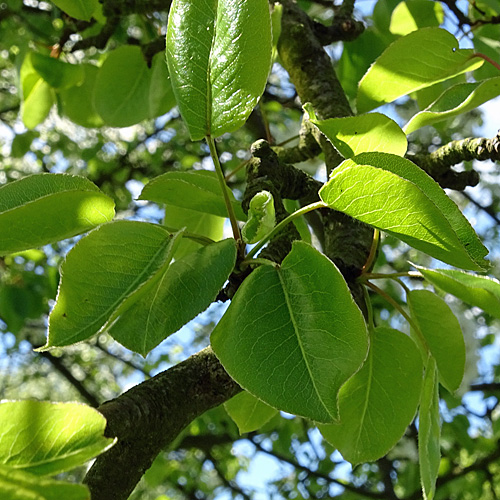
[[[260,429],[278,414],[278,410],[271,408],[246,391],[226,401],[224,408],[238,426],[240,434]]]

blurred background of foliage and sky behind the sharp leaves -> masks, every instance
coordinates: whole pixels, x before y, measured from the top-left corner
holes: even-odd
[[[109,0],[99,4],[94,19],[78,21],[49,2],[0,0],[0,185],[38,172],[83,175],[113,197],[119,217],[161,221],[162,207],[134,200],[140,188],[166,171],[211,168],[208,148],[190,141],[177,110],[172,108],[168,85],[149,108],[153,116],[140,106],[125,109],[123,116],[106,114],[106,102],[113,98],[116,82],[127,85],[127,71],[148,75],[150,92],[158,85],[150,72],[155,64],[158,66],[158,57],[163,60],[169,4],[167,0]],[[330,1],[300,0],[299,4],[313,19],[325,24],[338,8]],[[404,10],[408,5],[415,13],[410,18]],[[411,30],[412,22],[417,27],[444,25],[465,47],[473,46],[498,60],[500,28],[482,22],[500,14],[497,0],[470,4],[360,0],[355,12],[365,21],[365,32],[353,42],[327,47],[351,100],[369,65],[388,43]],[[458,12],[473,24],[464,22]],[[131,63],[132,69],[122,68],[125,73],[121,79],[111,72],[112,82],[106,82],[108,77],[102,76],[102,68],[107,58],[123,48],[129,55],[140,55],[140,48],[144,58],[134,59],[136,66]],[[50,61],[33,54],[62,56]],[[53,61],[78,65],[82,71],[69,74],[64,70],[61,74],[66,79],[49,82],[43,75],[50,80]],[[476,79],[497,75],[489,65],[476,73]],[[103,94],[95,98],[99,78]],[[412,99],[400,99],[382,111],[404,124],[453,83],[456,81],[447,81]],[[134,95],[131,100],[142,102],[148,95]],[[411,134],[409,151],[432,152],[451,140],[482,135],[485,109]],[[495,109],[498,116],[498,102]],[[243,193],[244,163],[251,144],[269,134],[276,144],[296,139],[301,118],[294,88],[278,59],[263,99],[247,125],[217,141],[229,185],[237,197]],[[110,126],[116,124],[124,126]],[[324,180],[320,161],[301,167]],[[498,271],[499,169],[492,162],[464,163],[457,168],[472,167],[481,174],[479,185],[451,192],[450,196],[491,250]],[[146,359],[106,335],[64,350],[33,352],[44,343],[47,315],[57,292],[58,266],[74,241],[0,259],[2,399],[79,400],[97,406],[208,344],[223,305],[213,305]],[[377,269],[407,271],[408,260],[417,258],[420,264],[426,264],[414,250],[385,237]],[[493,274],[499,276],[498,272]],[[387,280],[383,286],[401,300],[400,290],[392,281]],[[443,458],[436,498],[499,498],[500,323],[477,308],[468,308],[451,297],[446,299],[460,313],[468,360],[460,394],[450,395],[444,389],[441,393]],[[378,324],[406,328],[402,318],[377,297],[374,308]],[[227,412],[219,407],[192,422],[172,449],[157,458],[132,498],[417,499],[421,493],[414,426],[387,457],[353,470],[310,422],[276,415],[262,428],[240,435]],[[81,479],[82,473],[76,471],[71,477]]]

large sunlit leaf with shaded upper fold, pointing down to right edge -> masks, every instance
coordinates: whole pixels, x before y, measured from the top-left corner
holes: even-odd
[[[319,194],[330,208],[447,264],[472,270],[488,266],[488,250],[459,208],[409,160],[363,153],[336,168]]]

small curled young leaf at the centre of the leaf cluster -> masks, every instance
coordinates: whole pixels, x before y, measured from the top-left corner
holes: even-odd
[[[248,220],[241,228],[245,243],[257,243],[276,225],[274,198],[269,191],[259,191],[251,200]]]

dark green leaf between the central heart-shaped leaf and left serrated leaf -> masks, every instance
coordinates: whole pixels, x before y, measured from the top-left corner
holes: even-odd
[[[146,356],[215,300],[235,262],[233,239],[207,245],[176,260],[148,293],[118,318],[110,335]]]

